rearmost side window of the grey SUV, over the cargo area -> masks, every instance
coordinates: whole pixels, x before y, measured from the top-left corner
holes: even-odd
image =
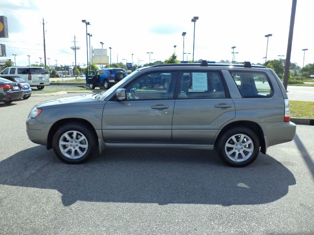
[[[231,71],[243,98],[263,98],[273,94],[268,76],[264,72]]]

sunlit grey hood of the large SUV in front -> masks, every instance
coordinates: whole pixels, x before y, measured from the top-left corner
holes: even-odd
[[[63,97],[63,98],[57,98],[52,100],[47,100],[44,102],[41,102],[36,105],[37,108],[43,109],[43,108],[53,108],[55,106],[78,106],[83,105],[90,102],[96,102],[100,100],[95,99],[96,95],[93,94],[83,94],[83,95],[75,95],[75,96],[69,96],[69,97]]]

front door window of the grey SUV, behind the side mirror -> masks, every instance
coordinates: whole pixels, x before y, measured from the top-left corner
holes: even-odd
[[[147,73],[132,81],[125,89],[128,100],[172,99],[177,72]]]

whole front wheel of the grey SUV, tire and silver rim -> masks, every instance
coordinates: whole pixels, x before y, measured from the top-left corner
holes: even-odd
[[[87,161],[97,151],[96,143],[92,131],[76,122],[61,126],[52,139],[54,153],[61,161],[69,164]]]

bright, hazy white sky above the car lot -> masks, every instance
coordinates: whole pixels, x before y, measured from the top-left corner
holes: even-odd
[[[86,25],[91,47],[104,49],[111,62],[137,64],[164,61],[176,52],[192,59],[195,23],[194,60],[263,63],[268,39],[267,60],[286,58],[292,0],[0,0],[0,16],[8,21],[6,57],[18,66],[44,63],[43,20],[47,65],[86,64]],[[291,63],[300,67],[314,63],[313,0],[298,0],[294,23]],[[88,41],[89,43],[89,41]],[[176,48],[174,46],[177,46]],[[89,46],[89,45],[88,45]],[[147,52],[153,52],[148,54]]]

